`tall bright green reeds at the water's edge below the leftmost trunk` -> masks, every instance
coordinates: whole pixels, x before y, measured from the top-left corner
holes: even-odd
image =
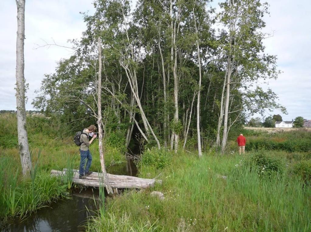
[[[34,212],[44,204],[61,197],[66,186],[49,173],[37,172],[29,179],[19,177],[18,170],[12,174],[12,159],[0,157],[0,218]],[[33,172],[34,173],[34,172]]]

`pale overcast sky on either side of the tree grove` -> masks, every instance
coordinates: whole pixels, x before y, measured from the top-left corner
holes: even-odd
[[[92,13],[92,0],[27,0],[25,12],[25,78],[29,83],[26,93],[29,98],[26,109],[33,109],[31,102],[34,91],[39,89],[44,74],[53,73],[56,62],[72,54],[70,49],[43,47],[34,49],[44,41],[71,46],[68,39],[80,38],[85,30],[83,17],[79,12]],[[218,2],[218,1],[216,1]],[[277,55],[279,69],[283,71],[270,88],[279,96],[279,103],[288,110],[280,111],[283,120],[297,116],[311,119],[311,8],[310,0],[267,0],[270,17],[265,21],[265,32],[274,31],[264,44],[267,53]],[[213,5],[216,5],[214,2]],[[307,26],[306,26],[307,25]],[[16,67],[16,3],[13,0],[0,1],[0,109],[16,109],[15,67]],[[53,40],[52,40],[53,38]],[[267,88],[267,86],[263,86]],[[268,116],[268,114],[267,114]]]

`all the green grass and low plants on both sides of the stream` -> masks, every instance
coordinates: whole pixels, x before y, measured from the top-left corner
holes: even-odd
[[[28,132],[36,175],[21,177],[14,115],[0,115],[0,219],[33,213],[66,195],[71,184],[51,169],[78,168],[78,147],[57,119],[31,118]],[[36,127],[37,125],[37,127]],[[61,129],[60,129],[61,128]],[[179,150],[145,149],[139,176],[159,176],[162,185],[126,191],[106,199],[87,231],[311,231],[311,136],[303,130],[267,133],[245,130],[248,152],[235,141],[220,156],[209,149],[199,159]],[[272,142],[271,142],[272,141]],[[251,147],[251,148],[250,148]],[[92,170],[100,169],[98,147],[91,146]],[[194,152],[195,153],[195,152]],[[38,158],[38,154],[39,158]],[[107,148],[106,164],[124,162]],[[226,176],[223,179],[221,176]],[[164,193],[162,201],[152,191]]]

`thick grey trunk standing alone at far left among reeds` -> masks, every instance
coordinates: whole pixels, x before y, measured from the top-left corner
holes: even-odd
[[[17,37],[16,37],[16,115],[18,147],[22,173],[29,175],[32,170],[26,131],[25,77],[24,77],[24,39],[25,39],[25,0],[16,0]]]

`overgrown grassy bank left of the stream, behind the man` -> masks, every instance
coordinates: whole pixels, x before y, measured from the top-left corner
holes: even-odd
[[[71,188],[60,178],[51,177],[51,169],[79,169],[79,147],[73,136],[56,118],[27,118],[27,129],[35,175],[24,178],[17,149],[15,114],[0,114],[0,225],[8,217],[25,217],[52,201],[62,198]],[[100,170],[98,145],[90,147],[93,155],[92,171]],[[38,155],[40,153],[40,156]],[[118,149],[107,147],[107,170],[125,161]]]

